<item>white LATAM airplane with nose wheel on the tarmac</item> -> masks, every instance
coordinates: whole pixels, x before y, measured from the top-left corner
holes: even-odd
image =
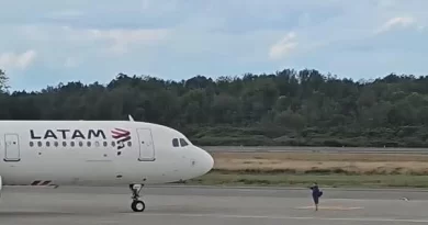
[[[207,173],[213,157],[182,133],[129,121],[0,121],[3,185],[128,185],[131,209],[143,212],[146,184]]]

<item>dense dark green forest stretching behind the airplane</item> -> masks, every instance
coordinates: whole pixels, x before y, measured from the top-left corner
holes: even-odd
[[[370,81],[284,69],[212,79],[119,74],[109,83],[9,91],[0,120],[128,120],[179,130],[195,145],[428,146],[428,76]]]

